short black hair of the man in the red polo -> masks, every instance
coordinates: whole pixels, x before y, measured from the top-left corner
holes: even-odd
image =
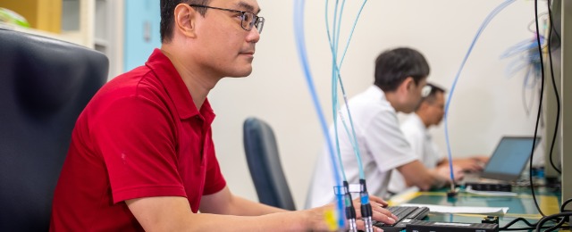
[[[174,12],[178,4],[202,4],[208,5],[211,0],[161,0],[161,43],[168,43],[172,39],[172,29],[174,27]],[[196,7],[198,13],[205,16],[205,7]]]

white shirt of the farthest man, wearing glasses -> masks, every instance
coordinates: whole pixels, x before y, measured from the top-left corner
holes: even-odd
[[[423,162],[427,169],[434,169],[437,167],[437,163],[445,158],[437,145],[433,143],[433,139],[427,128],[425,128],[425,124],[416,113],[411,113],[408,119],[401,124],[401,131],[408,139],[413,153],[416,154],[416,157]],[[391,174],[389,191],[397,194],[404,191],[407,187],[405,178],[403,178],[400,171],[394,171]]]

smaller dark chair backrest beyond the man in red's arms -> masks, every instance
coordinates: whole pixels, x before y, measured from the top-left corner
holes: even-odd
[[[258,200],[278,208],[296,210],[272,128],[263,120],[248,118],[243,129],[248,170],[257,188]]]

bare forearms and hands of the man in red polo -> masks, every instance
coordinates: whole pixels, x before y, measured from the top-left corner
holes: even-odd
[[[214,203],[215,201],[223,203]],[[387,203],[381,198],[370,195],[369,201],[373,211],[372,220],[388,224],[397,220],[395,215],[384,208]],[[201,202],[201,213],[193,213],[187,198],[181,196],[144,197],[127,200],[125,203],[147,231],[208,231],[222,223],[233,225],[225,229],[227,231],[328,231],[330,227],[326,223],[326,214],[335,207],[331,203],[306,211],[283,211],[233,196],[227,188],[206,196],[206,202]],[[359,200],[356,199],[353,203],[357,219],[360,219]],[[357,220],[357,228],[365,229],[363,220]]]

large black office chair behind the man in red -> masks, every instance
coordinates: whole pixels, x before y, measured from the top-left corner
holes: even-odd
[[[107,80],[104,54],[0,29],[0,231],[47,231],[71,130]]]

